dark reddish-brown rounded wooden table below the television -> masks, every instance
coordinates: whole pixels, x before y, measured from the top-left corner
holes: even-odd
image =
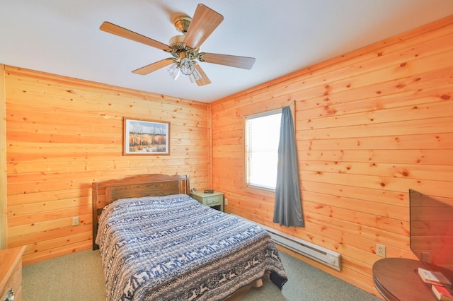
[[[431,285],[418,276],[418,268],[425,266],[418,260],[385,258],[373,265],[373,282],[385,300],[437,300]]]

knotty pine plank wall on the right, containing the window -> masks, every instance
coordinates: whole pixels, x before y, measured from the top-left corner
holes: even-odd
[[[213,188],[236,213],[342,254],[369,293],[372,265],[409,248],[408,189],[453,203],[453,16],[212,103]],[[305,228],[272,223],[244,188],[244,116],[295,103]],[[301,283],[303,285],[303,283]]]

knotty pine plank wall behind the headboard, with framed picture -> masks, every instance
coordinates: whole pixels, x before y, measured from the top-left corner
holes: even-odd
[[[13,66],[5,82],[8,247],[27,245],[24,264],[91,248],[93,181],[178,173],[209,186],[209,105]],[[123,156],[123,117],[170,122],[170,155]]]

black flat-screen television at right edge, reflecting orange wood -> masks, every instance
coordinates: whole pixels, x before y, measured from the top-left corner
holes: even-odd
[[[453,283],[453,201],[409,189],[411,250],[435,274]],[[438,277],[439,278],[439,277]],[[448,283],[449,282],[449,283]]]

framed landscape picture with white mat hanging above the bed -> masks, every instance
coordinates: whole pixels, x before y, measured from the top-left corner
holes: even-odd
[[[124,155],[169,155],[170,122],[124,119]]]

